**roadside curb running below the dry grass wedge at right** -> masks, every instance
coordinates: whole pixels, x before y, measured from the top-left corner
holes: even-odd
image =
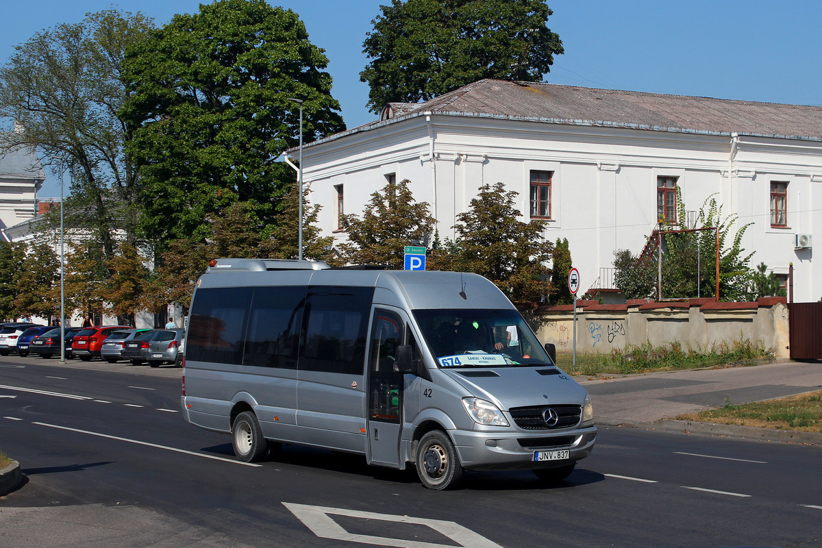
[[[603,426],[624,426],[644,428],[646,430],[667,430],[685,432],[686,434],[725,435],[743,440],[783,441],[800,444],[822,445],[822,433],[798,432],[792,430],[774,430],[755,426],[717,424],[715,422],[677,421],[660,419],[652,422],[620,421],[618,419],[597,418],[596,423]]]

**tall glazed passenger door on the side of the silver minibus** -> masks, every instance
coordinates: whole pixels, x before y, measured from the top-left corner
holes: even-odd
[[[404,341],[405,320],[377,308],[372,317],[368,356],[368,463],[399,466],[403,424],[403,375],[395,371],[396,351]]]

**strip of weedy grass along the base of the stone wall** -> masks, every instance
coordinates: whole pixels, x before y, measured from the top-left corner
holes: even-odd
[[[682,348],[675,341],[661,347],[651,343],[640,346],[627,345],[614,349],[609,354],[577,354],[576,371],[580,375],[649,373],[652,371],[677,371],[699,367],[733,365],[754,365],[763,358],[773,358],[760,344],[750,340],[713,344],[710,348]],[[571,371],[573,354],[557,352],[557,365]]]

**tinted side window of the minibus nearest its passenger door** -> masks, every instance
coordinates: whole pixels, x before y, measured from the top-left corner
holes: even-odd
[[[300,369],[363,375],[374,288],[308,288]]]

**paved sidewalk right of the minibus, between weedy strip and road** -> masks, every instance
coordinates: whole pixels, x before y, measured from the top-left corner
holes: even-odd
[[[687,412],[822,390],[822,364],[801,361],[725,369],[575,379],[593,399],[598,424],[822,444],[822,434],[675,421]]]

